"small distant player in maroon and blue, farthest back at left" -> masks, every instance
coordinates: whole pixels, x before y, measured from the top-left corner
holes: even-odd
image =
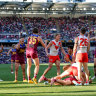
[[[11,53],[11,73],[13,74],[13,63],[15,63],[15,55],[16,55],[16,49],[15,49],[15,44],[12,45],[12,49],[10,49],[7,53],[7,55],[9,56],[9,54]]]

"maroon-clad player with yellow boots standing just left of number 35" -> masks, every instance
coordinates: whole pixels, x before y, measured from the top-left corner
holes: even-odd
[[[27,82],[25,79],[25,59],[24,59],[24,52],[26,49],[26,45],[24,44],[24,38],[21,38],[19,40],[19,43],[16,44],[16,55],[15,55],[15,83],[17,82],[17,76],[18,76],[18,68],[19,64],[22,68],[22,74],[23,74],[23,82]]]

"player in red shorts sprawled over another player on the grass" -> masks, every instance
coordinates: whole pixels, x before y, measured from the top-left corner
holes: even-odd
[[[56,82],[58,79],[62,79],[66,76],[73,76],[78,81],[78,67],[79,66],[76,63],[74,63],[72,65],[68,65],[68,67],[65,67],[66,70],[61,75],[56,76],[56,77],[51,79],[51,85],[54,82]],[[64,69],[64,67],[63,67],[63,69]],[[81,76],[82,76],[81,79],[83,81],[83,84],[85,84],[86,78],[85,78],[84,72],[81,72]],[[82,83],[79,83],[79,82],[73,82],[73,83],[76,84],[76,85],[82,85]]]

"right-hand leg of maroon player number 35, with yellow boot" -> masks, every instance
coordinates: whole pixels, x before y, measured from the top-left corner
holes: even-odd
[[[34,69],[34,78],[33,78],[33,81],[35,84],[37,84],[37,74],[39,72],[39,58],[35,58],[33,59],[33,62],[35,64],[35,69]]]

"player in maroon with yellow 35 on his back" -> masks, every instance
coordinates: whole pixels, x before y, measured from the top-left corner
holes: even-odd
[[[33,34],[31,34],[31,36],[29,36],[29,38],[28,38],[27,49],[26,49],[28,83],[34,82],[35,84],[37,84],[36,77],[39,72],[39,58],[38,58],[38,54],[37,54],[37,47],[38,47],[39,42],[42,44],[42,46],[44,48],[46,47],[45,44],[43,43],[43,40],[38,35],[38,29],[34,28]],[[35,64],[33,81],[30,78],[31,65],[32,65],[31,58]]]

